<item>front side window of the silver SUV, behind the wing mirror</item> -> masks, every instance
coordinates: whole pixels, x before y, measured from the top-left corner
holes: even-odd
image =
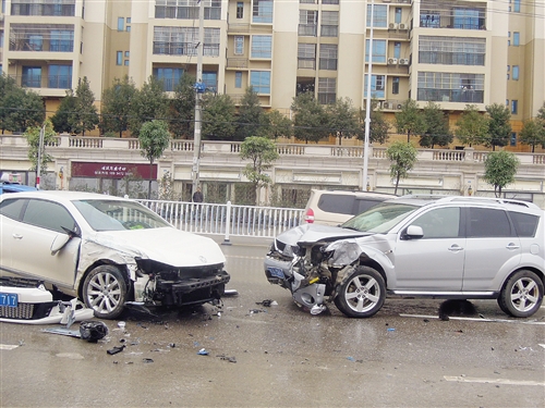
[[[425,238],[456,238],[460,232],[460,209],[438,208],[419,217],[412,225],[422,226]]]

